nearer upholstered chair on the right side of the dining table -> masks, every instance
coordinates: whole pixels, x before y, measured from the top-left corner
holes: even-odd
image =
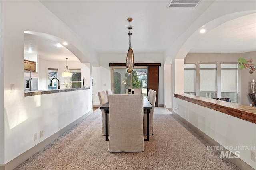
[[[150,110],[149,115],[149,135],[153,135],[153,114],[156,104],[156,91],[151,90],[149,100],[150,104],[152,105],[153,109]],[[147,114],[144,114],[143,117],[143,132],[144,135],[147,135]]]

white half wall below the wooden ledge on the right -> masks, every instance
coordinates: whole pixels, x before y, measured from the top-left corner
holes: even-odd
[[[254,146],[256,124],[209,109],[185,100],[174,98],[178,115],[200,129],[222,146]],[[250,106],[248,106],[250,107]],[[206,149],[206,148],[205,148]],[[230,150],[233,154],[236,150]],[[239,150],[240,159],[256,169],[250,150]],[[256,152],[256,150],[253,150]]]

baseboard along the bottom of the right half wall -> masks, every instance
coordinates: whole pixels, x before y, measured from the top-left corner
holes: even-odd
[[[171,109],[168,109],[171,111]],[[204,141],[208,142],[211,146],[222,146],[220,145],[218,142],[216,142],[214,139],[212,139],[211,137],[209,137],[208,135],[206,135],[204,132],[202,132],[200,129],[198,129],[197,127],[195,127],[194,125],[192,125],[190,122],[188,122],[186,119],[184,119],[183,117],[181,117],[180,115],[178,115],[177,113],[175,113],[174,111],[171,111],[172,114],[178,118],[180,121],[182,121],[182,123],[184,123],[185,125],[187,125],[190,129],[192,129],[192,131],[194,131],[195,133],[197,133],[200,137],[202,137],[202,139],[204,139]],[[222,150],[218,150],[219,152],[221,152]],[[225,150],[226,151],[226,150]],[[231,153],[231,156],[235,156],[233,153]],[[252,168],[250,165],[246,164],[246,162],[244,162],[242,159],[240,158],[228,158],[228,160],[230,160],[233,164],[235,164],[236,166],[238,166],[238,168],[242,169],[242,170],[254,170],[254,168]]]

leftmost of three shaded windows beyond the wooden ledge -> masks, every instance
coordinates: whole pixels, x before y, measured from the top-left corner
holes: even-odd
[[[196,64],[184,63],[184,93],[196,95]]]

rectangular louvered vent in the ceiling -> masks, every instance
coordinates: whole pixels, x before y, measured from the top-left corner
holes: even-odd
[[[196,8],[201,0],[171,0],[168,8]]]

